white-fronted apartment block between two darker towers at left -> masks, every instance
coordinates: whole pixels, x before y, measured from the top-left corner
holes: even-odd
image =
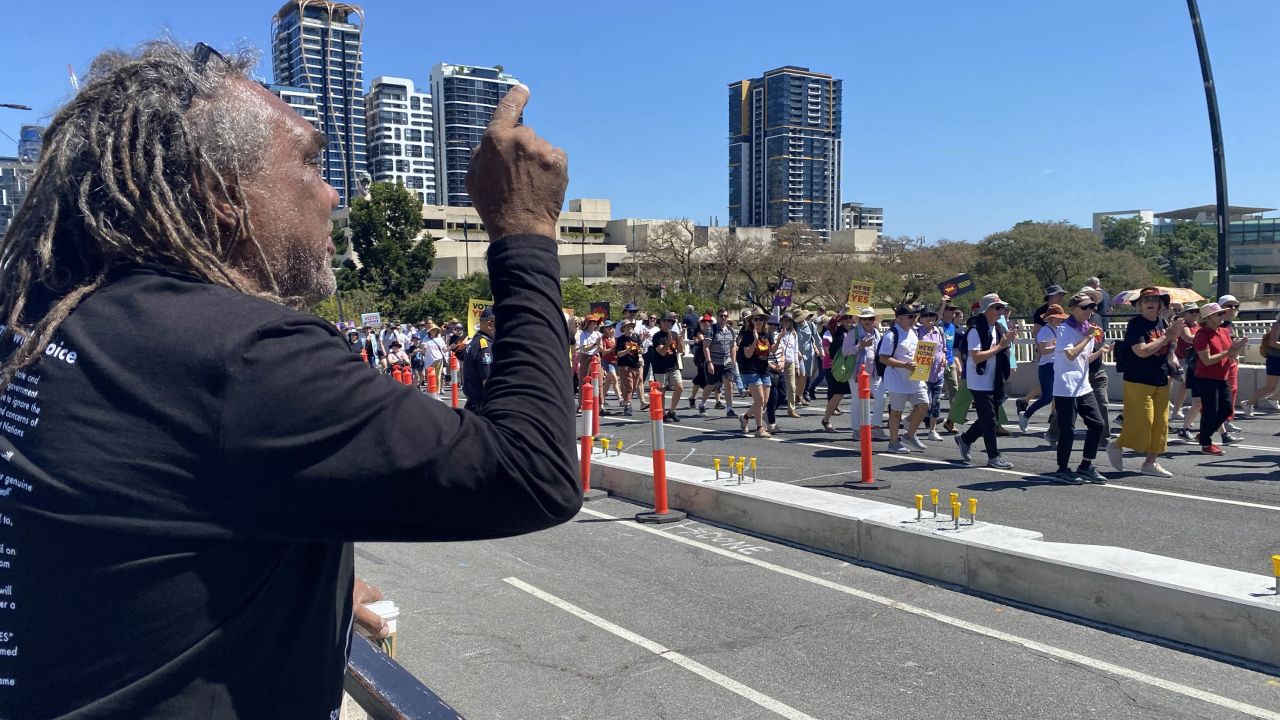
[[[370,85],[365,108],[374,182],[399,183],[424,205],[439,205],[431,94],[417,92],[411,79],[380,76]]]

